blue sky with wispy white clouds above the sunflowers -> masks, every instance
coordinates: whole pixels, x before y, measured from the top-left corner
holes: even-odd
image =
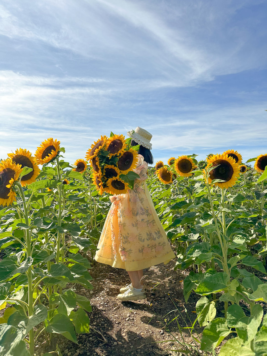
[[[266,0],[0,0],[0,157],[101,134],[152,153],[266,153]]]

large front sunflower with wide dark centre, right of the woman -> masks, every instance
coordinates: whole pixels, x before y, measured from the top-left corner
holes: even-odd
[[[235,162],[235,159],[225,155],[213,155],[210,158],[207,158],[208,164],[211,164],[211,167],[214,167],[209,172],[209,183],[213,179],[222,179],[225,182],[214,183],[220,188],[229,188],[232,187],[237,178],[239,177],[239,165]],[[218,166],[218,167],[216,167]]]

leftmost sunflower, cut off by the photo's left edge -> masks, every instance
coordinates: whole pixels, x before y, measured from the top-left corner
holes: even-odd
[[[20,164],[5,159],[0,162],[0,205],[8,206],[16,201],[16,193],[12,190],[13,183],[19,179],[22,168]]]

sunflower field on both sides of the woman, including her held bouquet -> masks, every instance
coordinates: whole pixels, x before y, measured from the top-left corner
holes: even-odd
[[[88,270],[109,195],[133,188],[138,150],[111,132],[73,165],[53,138],[35,155],[20,148],[0,161],[1,356],[34,355],[40,335],[60,356],[56,334],[77,343],[89,333],[90,300],[75,286],[93,288]],[[267,355],[267,155],[247,165],[234,150],[196,157],[159,161],[147,180],[175,269],[187,271],[185,302],[198,295],[188,329],[203,328],[192,336],[200,354],[223,341],[221,356]]]

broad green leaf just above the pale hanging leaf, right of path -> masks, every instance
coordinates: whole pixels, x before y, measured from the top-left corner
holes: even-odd
[[[195,292],[200,295],[221,292],[221,290],[225,290],[228,287],[229,281],[229,276],[225,272],[212,274],[199,283]]]

